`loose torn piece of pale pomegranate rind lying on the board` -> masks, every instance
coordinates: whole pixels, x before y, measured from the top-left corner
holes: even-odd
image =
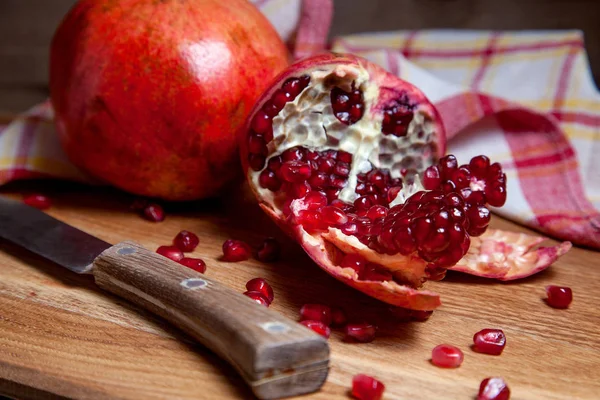
[[[545,240],[522,232],[488,229],[471,238],[467,254],[449,269],[501,281],[526,278],[548,268],[572,247],[571,242],[562,242],[532,250]]]

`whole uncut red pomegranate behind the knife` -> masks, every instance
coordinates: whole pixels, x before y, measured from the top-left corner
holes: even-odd
[[[52,41],[50,94],[78,167],[167,200],[216,194],[235,133],[288,63],[246,0],[81,0]]]

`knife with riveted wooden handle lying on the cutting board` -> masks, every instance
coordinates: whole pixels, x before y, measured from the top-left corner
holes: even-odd
[[[190,268],[125,241],[106,243],[0,196],[0,238],[170,321],[227,360],[261,399],[318,390],[327,340]]]

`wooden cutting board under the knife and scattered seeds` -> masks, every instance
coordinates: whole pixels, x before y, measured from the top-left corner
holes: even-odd
[[[40,185],[11,186],[16,194]],[[275,310],[297,318],[307,302],[343,307],[353,319],[379,325],[373,343],[330,338],[331,371],[310,399],[347,398],[352,376],[367,373],[386,385],[386,399],[473,399],[488,376],[503,376],[512,399],[597,399],[600,393],[600,257],[574,248],[549,270],[512,283],[449,273],[427,287],[443,306],[428,322],[401,323],[386,306],[322,272],[284,237],[257,206],[235,193],[232,201],[171,207],[162,223],[128,210],[131,197],[116,191],[49,184],[48,212],[110,243],[133,239],[150,249],[168,244],[181,229],[200,236],[193,254],[207,275],[244,291],[251,278],[275,290]],[[523,230],[495,218],[497,228]],[[227,238],[256,245],[266,236],[283,246],[281,260],[263,264],[219,261]],[[544,287],[570,286],[568,310],[548,307]],[[482,328],[501,328],[501,356],[471,350]],[[460,347],[463,365],[445,370],[430,363],[441,343]],[[63,271],[0,243],[0,393],[16,398],[219,399],[251,398],[232,368],[164,321],[98,290],[90,277]]]

